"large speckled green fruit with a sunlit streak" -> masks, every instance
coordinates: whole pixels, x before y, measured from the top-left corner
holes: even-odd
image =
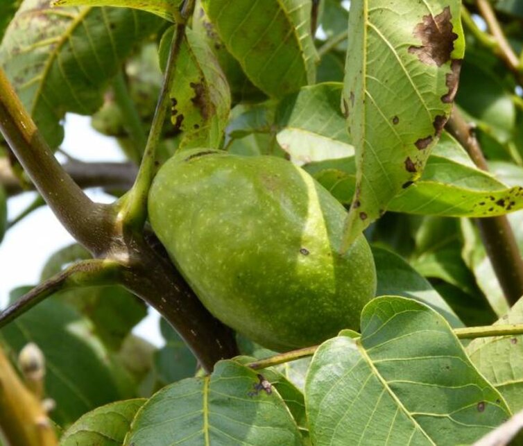
[[[182,151],[158,172],[148,212],[203,305],[266,348],[357,329],[375,295],[364,237],[338,254],[343,206],[280,158]]]

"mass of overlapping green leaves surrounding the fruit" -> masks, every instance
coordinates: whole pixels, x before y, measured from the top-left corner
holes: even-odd
[[[53,3],[0,5],[0,65],[24,105],[53,148],[74,112],[125,153],[143,151],[114,80],[123,74],[146,131],[183,2]],[[127,291],[55,295],[0,336],[13,359],[29,342],[43,350],[62,445],[470,444],[523,409],[523,337],[464,348],[453,332],[523,323],[466,219],[515,212],[523,250],[516,85],[473,36],[462,64],[457,0],[341,3],[320,2],[313,38],[311,0],[197,1],[157,158],[207,146],[302,165],[350,208],[348,243],[368,228],[386,297],[363,310],[360,333],[341,332],[311,360],[253,370],[275,352],[239,339],[248,357],[203,376],[165,323],[161,349],[132,334],[146,309]],[[521,20],[515,3],[497,8],[508,24]],[[520,28],[507,28],[521,46]],[[444,130],[454,96],[492,173]],[[0,239],[6,220],[0,185]],[[42,279],[86,257],[62,250]]]

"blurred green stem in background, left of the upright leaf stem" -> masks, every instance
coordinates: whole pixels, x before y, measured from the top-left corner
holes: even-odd
[[[123,68],[112,80],[112,89],[114,99],[123,117],[123,126],[129,132],[132,147],[135,149],[132,161],[138,163],[142,159],[142,151],[147,144],[147,138],[142,126],[142,118],[129,95]]]

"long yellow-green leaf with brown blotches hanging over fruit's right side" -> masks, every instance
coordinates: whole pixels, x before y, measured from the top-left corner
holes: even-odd
[[[345,246],[417,180],[447,121],[464,39],[458,0],[353,0],[343,110],[357,153]]]

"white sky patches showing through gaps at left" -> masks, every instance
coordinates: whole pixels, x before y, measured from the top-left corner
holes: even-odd
[[[1,1],[1,0],[0,0]],[[64,151],[84,161],[122,161],[124,157],[113,139],[92,130],[89,117],[67,115]],[[98,202],[110,203],[113,198],[100,190],[89,191]],[[9,218],[32,203],[34,193],[26,193],[8,201]],[[37,284],[46,260],[56,250],[73,243],[74,239],[62,228],[48,207],[42,207],[8,230],[0,243],[0,305],[4,307],[10,291],[17,286]],[[155,345],[163,345],[158,324],[159,316],[151,309],[149,316],[135,333]]]

